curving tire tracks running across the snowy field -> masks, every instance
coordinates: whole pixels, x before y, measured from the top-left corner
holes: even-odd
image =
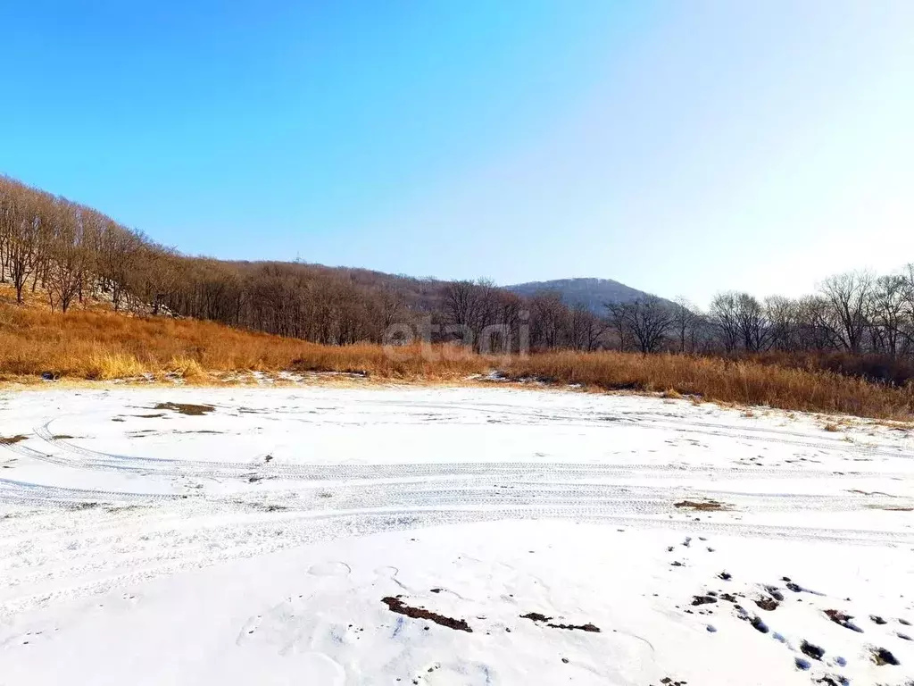
[[[810,512],[865,509],[878,502],[878,497],[874,500],[874,496],[846,492],[863,479],[898,479],[898,490],[903,492],[903,479],[911,476],[904,470],[904,461],[910,460],[911,454],[901,447],[852,445],[832,436],[813,437],[739,422],[716,423],[708,421],[707,410],[685,416],[691,412],[690,406],[681,416],[613,413],[611,409],[561,413],[553,407],[523,410],[511,403],[381,403],[377,396],[372,397],[375,400],[367,407],[359,406],[354,416],[342,422],[336,421],[333,407],[321,408],[324,414],[310,414],[312,409],[308,408],[305,415],[301,405],[298,410],[268,412],[282,413],[282,421],[301,421],[318,429],[371,422],[400,424],[409,432],[415,425],[449,423],[472,432],[474,426],[495,420],[515,428],[596,428],[599,437],[594,437],[595,448],[600,447],[598,442],[610,442],[615,430],[631,428],[653,429],[670,438],[713,438],[716,443],[713,449],[708,445],[685,446],[691,455],[676,454],[673,463],[669,462],[670,455],[659,452],[656,462],[643,461],[642,456],[632,463],[449,461],[255,466],[239,461],[159,459],[92,450],[52,432],[55,422],[78,416],[60,414],[41,420],[34,430],[42,447],[47,446],[44,450],[38,450],[34,441],[2,446],[21,457],[21,462],[50,466],[43,474],[51,475],[49,478],[57,475],[59,480],[44,484],[26,478],[0,479],[0,505],[10,509],[0,538],[0,577],[9,581],[9,588],[0,591],[0,611],[100,593],[118,585],[304,542],[470,521],[570,519],[600,521],[633,531],[664,528],[799,541],[914,544],[914,533],[885,527],[869,531],[846,525],[816,527],[808,522],[783,526],[776,518],[758,521],[768,515],[802,518]],[[228,407],[220,404],[222,410]],[[391,413],[390,408],[397,409]],[[482,421],[475,418],[467,422],[468,413],[479,415]],[[193,425],[183,418],[178,422]],[[733,461],[700,461],[705,455],[717,456],[715,451],[727,445],[721,442],[816,450],[822,453],[823,463],[749,466]],[[895,470],[847,470],[839,460],[848,456],[890,458],[896,461],[891,465]],[[106,475],[116,474],[131,478],[132,485],[138,483],[140,490],[142,479],[148,479],[159,491],[167,486],[177,492],[164,495],[73,488],[63,480],[72,469],[80,470],[80,483],[90,484],[95,477],[103,484]],[[250,477],[260,480],[249,483]],[[811,480],[823,478],[829,479],[834,492],[803,492],[804,484],[821,491],[822,487]],[[196,484],[202,488],[182,493],[182,489],[195,486],[191,483],[194,479],[205,481]],[[643,483],[651,479],[664,479],[666,483]],[[764,481],[771,484],[764,489],[774,492],[739,488],[744,480]],[[784,484],[782,491],[778,491],[779,482]],[[673,507],[675,500],[687,498],[715,499],[728,503],[733,510],[705,513]],[[907,502],[901,498],[893,504]],[[755,520],[739,521],[743,515],[753,515]]]

